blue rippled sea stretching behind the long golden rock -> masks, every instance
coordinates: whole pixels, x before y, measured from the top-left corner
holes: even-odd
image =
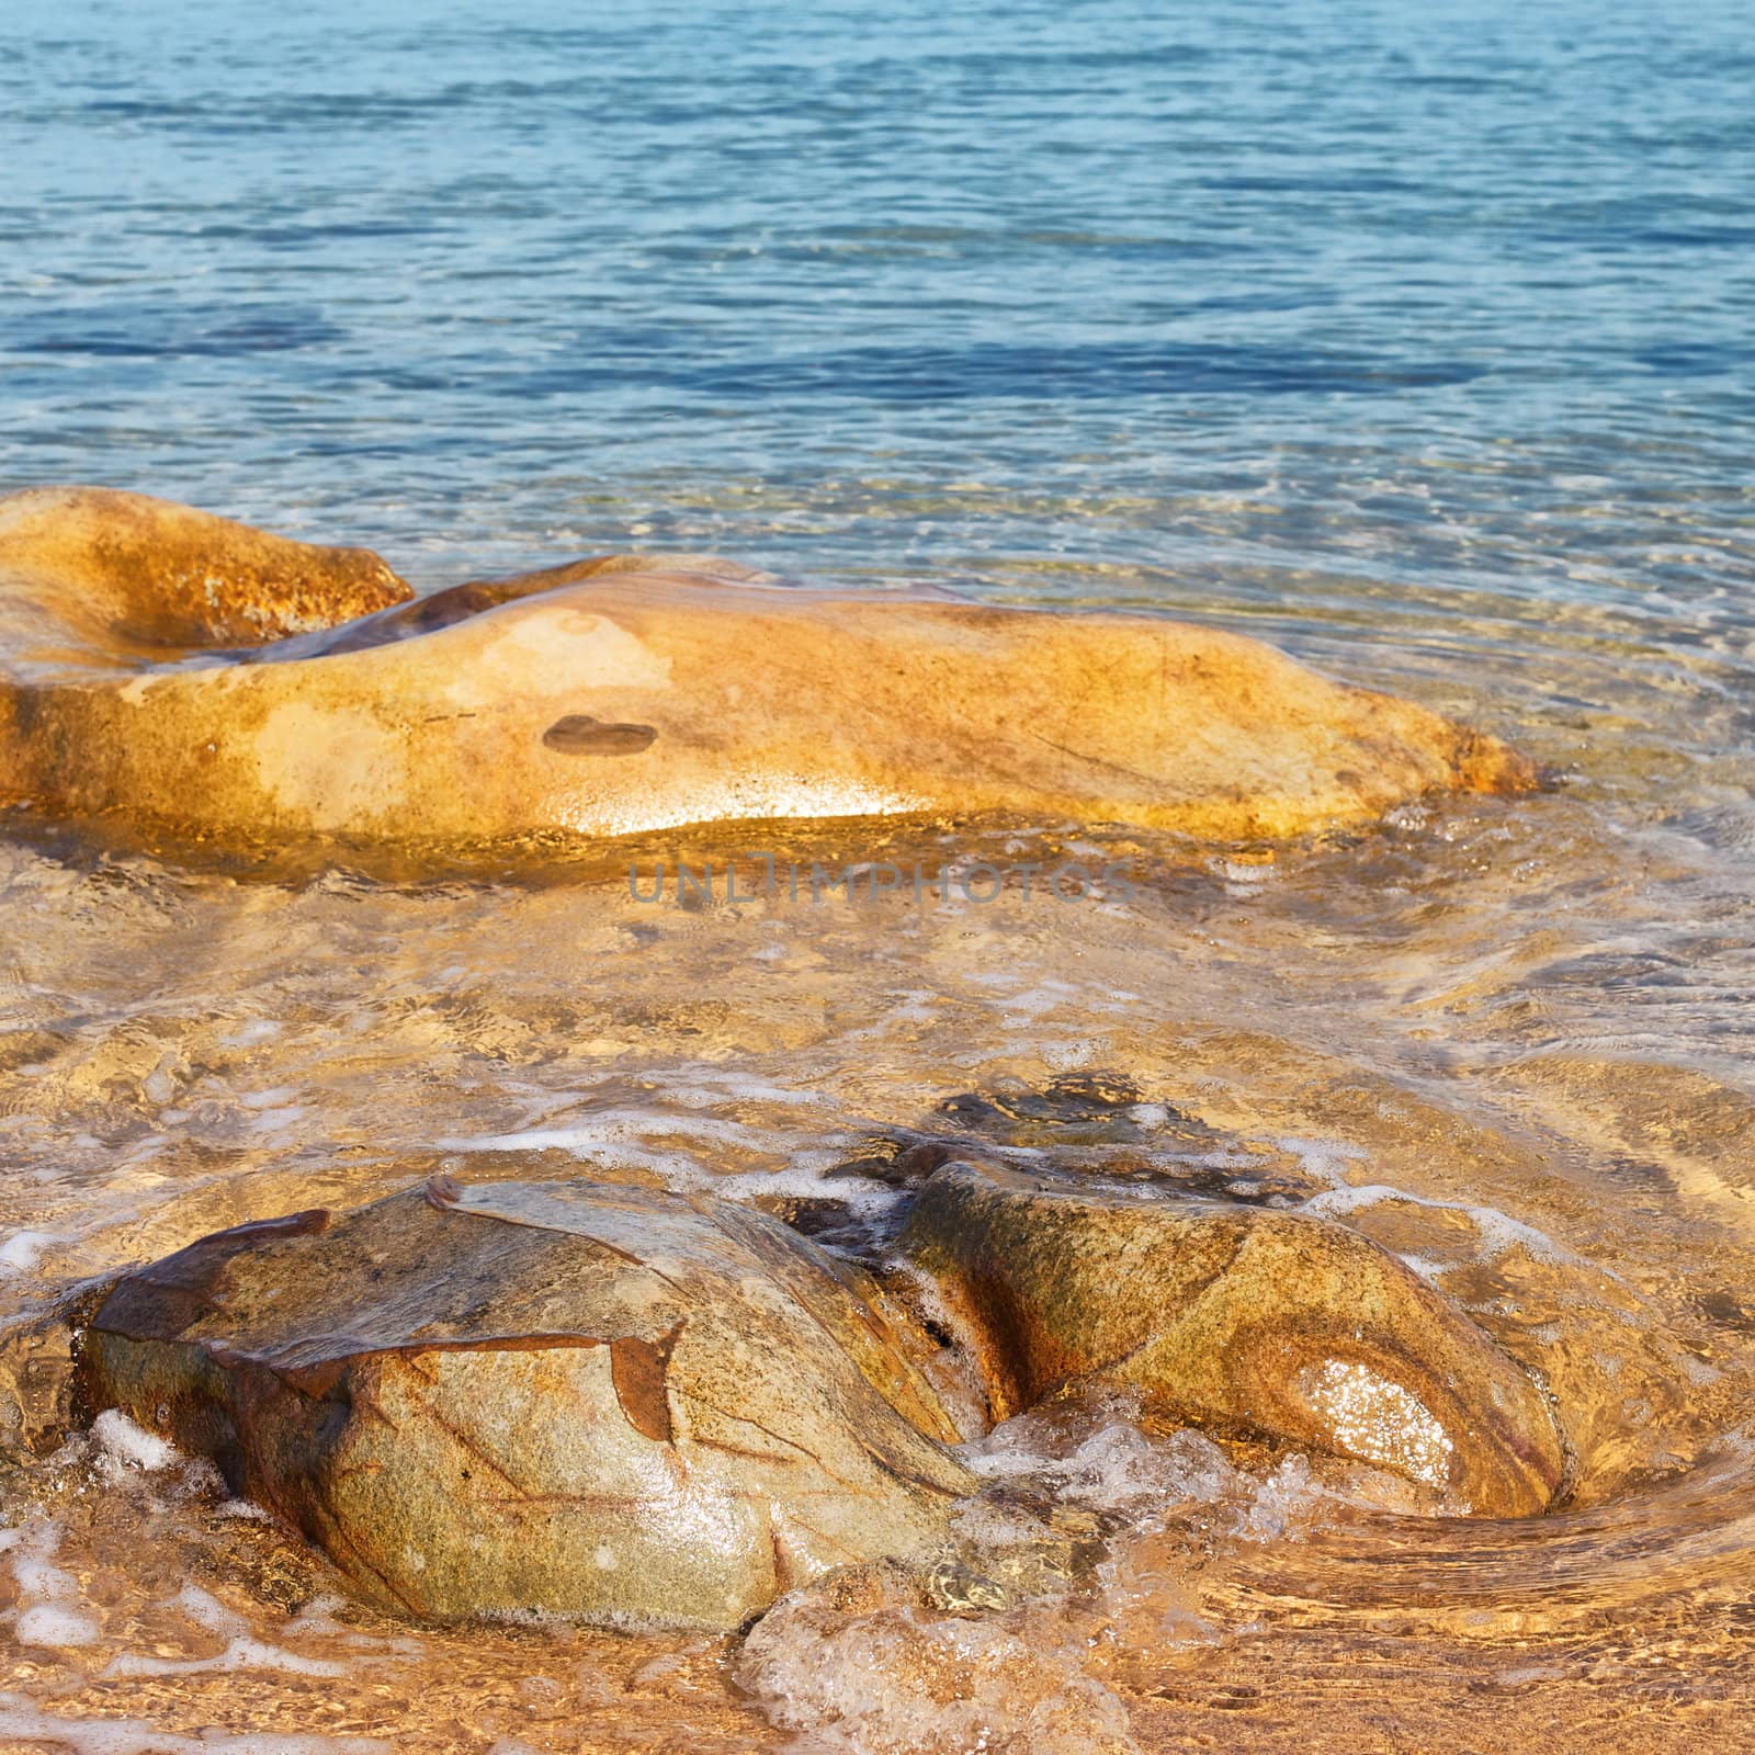
[[[1746,623],[1736,0],[7,16],[5,484],[423,579]]]

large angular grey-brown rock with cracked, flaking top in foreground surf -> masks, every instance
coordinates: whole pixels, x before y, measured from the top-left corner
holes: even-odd
[[[441,1620],[735,1627],[930,1546],[974,1490],[867,1276],[621,1186],[439,1181],[218,1232],[118,1281],[82,1372]]]

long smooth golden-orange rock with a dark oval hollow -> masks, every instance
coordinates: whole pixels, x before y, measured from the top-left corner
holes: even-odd
[[[135,497],[0,500],[0,802],[218,844],[942,811],[1237,837],[1532,781],[1423,707],[1146,616],[612,558],[353,621],[402,591]],[[351,625],[188,656],[319,621]]]

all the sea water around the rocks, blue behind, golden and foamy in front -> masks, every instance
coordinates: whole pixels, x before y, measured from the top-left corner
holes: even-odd
[[[14,837],[0,1307],[441,1165],[800,1199],[956,1093],[1102,1071],[1167,1186],[1265,1178],[1404,1253],[1580,1455],[1544,1520],[1434,1522],[1090,1409],[986,1443],[1113,1523],[1097,1574],[986,1618],[804,1602],[739,1650],[356,1616],[111,1432],[5,1483],[0,1746],[1746,1746],[1739,9],[11,18],[7,486],[372,542],[423,586],[711,548],[1169,609],[1557,783],[1279,849],[635,851],[1071,851],[1128,862],[1109,902],[683,909],[614,862],[269,883]]]

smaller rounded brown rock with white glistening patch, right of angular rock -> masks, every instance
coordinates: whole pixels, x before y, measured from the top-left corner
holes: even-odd
[[[1523,1516],[1560,1486],[1541,1388],[1341,1225],[946,1164],[900,1244],[972,1343],[995,1420],[1118,1383],[1220,1432],[1393,1469],[1458,1511]]]

